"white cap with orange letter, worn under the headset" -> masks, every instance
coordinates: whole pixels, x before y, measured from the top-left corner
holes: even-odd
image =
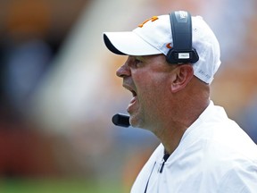
[[[132,31],[105,32],[104,43],[117,55],[167,55],[172,47],[170,15],[153,16]],[[192,17],[192,46],[199,55],[194,74],[210,84],[220,67],[220,45],[201,16]]]

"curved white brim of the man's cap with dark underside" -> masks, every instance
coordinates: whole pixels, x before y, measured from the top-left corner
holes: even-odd
[[[133,31],[105,32],[105,46],[116,55],[158,55],[161,52]]]

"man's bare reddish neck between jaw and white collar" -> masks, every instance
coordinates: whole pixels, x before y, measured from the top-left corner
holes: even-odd
[[[178,98],[174,100],[177,101],[176,103],[174,101],[172,102],[170,116],[164,116],[166,120],[162,120],[161,125],[159,125],[160,127],[154,132],[169,154],[175,151],[187,128],[198,119],[210,104],[209,86],[203,84],[204,89],[200,89],[201,92],[198,88],[199,85],[197,89],[188,87],[187,91],[184,92],[184,96],[183,94],[179,95],[180,102],[178,103]]]

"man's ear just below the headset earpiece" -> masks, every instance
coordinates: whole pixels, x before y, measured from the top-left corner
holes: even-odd
[[[174,74],[172,76],[172,82],[171,82],[171,92],[176,93],[179,90],[185,88],[188,84],[188,82],[193,78],[194,76],[194,69],[192,64],[179,64],[178,68],[176,68],[175,71],[173,71]]]

